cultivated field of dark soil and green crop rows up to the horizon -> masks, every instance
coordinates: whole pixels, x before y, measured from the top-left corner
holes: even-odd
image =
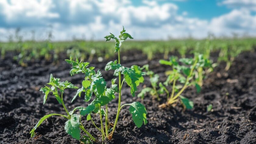
[[[66,114],[55,97],[48,96],[43,105],[44,94],[40,88],[49,82],[50,74],[68,80],[81,87],[83,74],[70,76],[71,65],[65,62],[69,55],[89,61],[95,70],[111,85],[113,72],[105,71],[110,60],[117,59],[113,53],[114,44],[103,41],[72,42],[9,42],[1,43],[0,58],[0,143],[63,143],[79,144],[64,130],[65,118],[49,117],[30,138],[30,130],[45,114]],[[181,101],[167,107],[159,107],[166,102],[166,94],[159,95],[160,101],[150,94],[144,99],[137,97],[144,87],[151,87],[148,76],[137,87],[135,97],[130,86],[124,85],[122,104],[139,101],[147,109],[148,124],[137,128],[128,107],[120,112],[116,132],[109,144],[254,144],[256,143],[256,40],[208,39],[169,41],[126,41],[121,51],[122,66],[148,64],[149,69],[159,75],[159,81],[166,80],[170,66],[159,64],[160,59],[170,56],[193,57],[195,52],[204,54],[215,64],[213,71],[203,79],[201,92],[194,86],[188,87],[182,95],[194,103],[192,109],[184,109]],[[169,92],[172,91],[168,87]],[[65,90],[63,101],[68,111],[77,106],[87,107],[84,93],[71,100],[75,89]],[[209,105],[212,108],[209,109]],[[108,118],[115,121],[118,107],[117,97],[108,104]],[[98,115],[92,114],[95,124],[100,127]],[[105,121],[105,120],[104,120]],[[101,143],[101,132],[86,118],[81,120],[84,127],[97,142]],[[84,135],[84,134],[83,134]]]

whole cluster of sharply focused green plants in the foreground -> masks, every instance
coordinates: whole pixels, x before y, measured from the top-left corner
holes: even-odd
[[[143,83],[144,81],[143,73],[141,72],[139,66],[133,65],[131,68],[128,68],[121,65],[120,47],[127,38],[133,39],[133,37],[131,37],[130,34],[125,32],[126,30],[124,30],[123,28],[119,35],[119,38],[115,37],[112,33],[105,37],[106,41],[113,39],[116,42],[115,52],[118,53],[118,60],[108,62],[108,64],[105,67],[105,70],[114,71],[114,76],[118,76],[118,84],[116,84],[117,79],[112,79],[112,85],[108,88],[105,79],[101,75],[100,70],[95,72],[94,67],[89,66],[89,62],[79,61],[78,58],[76,58],[76,60],[73,61],[72,56],[70,56],[70,59],[66,60],[67,63],[72,65],[70,75],[73,76],[78,73],[83,73],[85,78],[82,81],[82,87],[78,88],[77,86],[74,86],[68,81],[60,82],[60,79],[54,78],[51,75],[50,82],[47,83],[51,87],[45,86],[41,88],[41,91],[45,94],[44,104],[47,100],[48,94],[51,93],[58,100],[59,104],[62,104],[66,111],[66,115],[45,115],[37,122],[35,127],[30,131],[31,137],[35,135],[35,130],[38,126],[41,125],[41,123],[45,119],[53,115],[58,115],[67,119],[64,129],[74,139],[80,140],[84,143],[97,141],[97,139],[92,134],[90,134],[83,126],[81,122],[83,117],[86,117],[87,121],[91,121],[95,128],[97,128],[101,132],[102,141],[104,141],[105,138],[112,139],[113,133],[116,129],[121,108],[125,106],[130,106],[129,111],[132,114],[133,122],[138,128],[140,128],[143,125],[143,123],[145,125],[147,124],[147,111],[143,104],[141,104],[140,102],[133,102],[131,104],[123,104],[121,106],[121,90],[123,84],[126,83],[128,86],[130,86],[131,95],[134,97],[135,92],[137,91],[137,86],[139,86],[139,84]],[[76,107],[72,111],[68,111],[63,101],[64,90],[68,88],[78,89],[76,95],[73,97],[71,102],[73,102],[77,98],[77,96],[80,97],[81,93],[85,93],[84,101],[91,101],[91,103],[88,104],[87,107]],[[108,104],[111,100],[115,99],[116,93],[118,93],[118,107],[116,120],[114,122],[114,125],[112,125],[108,118]],[[79,111],[79,114],[77,114],[76,111]],[[99,120],[101,122],[100,128],[97,127],[94,123],[92,114],[99,115]],[[105,117],[105,126],[103,122],[103,117]],[[86,133],[86,136],[81,137],[81,130]]]

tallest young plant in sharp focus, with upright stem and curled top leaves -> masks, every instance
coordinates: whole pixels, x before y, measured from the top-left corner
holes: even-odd
[[[122,86],[123,83],[127,83],[128,86],[131,87],[130,92],[132,96],[135,96],[135,92],[137,91],[137,86],[139,86],[140,83],[143,83],[144,78],[142,76],[142,72],[140,68],[137,65],[133,65],[131,68],[127,68],[121,65],[121,55],[120,55],[120,47],[123,44],[123,42],[127,39],[133,39],[129,33],[125,33],[126,30],[123,30],[120,32],[119,38],[115,37],[112,33],[110,35],[106,36],[106,41],[109,41],[113,39],[116,44],[115,44],[115,53],[118,53],[118,60],[115,61],[110,61],[105,67],[105,70],[114,70],[114,76],[118,76],[118,107],[117,107],[117,114],[116,114],[116,120],[114,123],[114,126],[112,128],[112,132],[109,133],[108,139],[112,139],[113,133],[115,132],[116,125],[118,122],[119,118],[119,113],[121,111],[121,108],[124,106],[130,106],[130,113],[132,114],[133,117],[133,122],[135,125],[140,128],[144,122],[146,125],[148,123],[146,119],[146,108],[144,107],[143,104],[140,102],[133,102],[131,104],[123,104],[121,106],[121,96],[122,96]],[[122,80],[122,75],[123,75],[123,80]]]

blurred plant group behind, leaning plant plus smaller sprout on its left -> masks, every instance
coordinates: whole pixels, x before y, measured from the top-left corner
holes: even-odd
[[[178,61],[177,57],[172,56],[169,58],[169,61],[160,60],[159,63],[172,68],[172,70],[165,72],[167,75],[165,82],[158,83],[159,75],[150,71],[148,65],[144,65],[141,69],[144,69],[146,75],[150,77],[152,88],[144,88],[138,94],[138,97],[143,99],[145,94],[149,92],[160,100],[159,95],[165,93],[167,102],[160,105],[160,107],[165,107],[180,100],[184,108],[192,109],[194,106],[193,102],[181,94],[189,86],[195,86],[197,93],[201,91],[202,81],[206,74],[205,71],[207,68],[212,67],[211,61],[204,58],[202,54],[194,54],[194,58],[180,58]],[[171,93],[169,93],[168,86],[171,86]]]

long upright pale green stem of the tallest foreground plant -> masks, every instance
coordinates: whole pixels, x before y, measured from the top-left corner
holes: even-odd
[[[118,50],[118,63],[120,64],[120,50]],[[113,127],[113,130],[111,132],[111,137],[116,129],[116,124],[118,121],[119,113],[120,113],[120,107],[121,107],[121,72],[119,72],[119,97],[118,97],[118,108],[117,108],[117,114],[116,114],[116,121]]]

